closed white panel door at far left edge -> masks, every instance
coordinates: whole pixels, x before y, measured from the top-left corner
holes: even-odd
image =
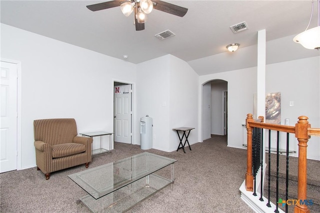
[[[17,163],[17,65],[0,64],[1,125],[0,172],[16,170]]]

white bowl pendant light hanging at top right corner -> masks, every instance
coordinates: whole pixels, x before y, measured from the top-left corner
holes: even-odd
[[[293,41],[296,43],[301,44],[304,48],[307,49],[320,49],[320,26],[319,26],[319,22],[320,22],[320,0],[316,0],[317,1],[317,6],[318,6],[318,24],[316,27],[313,27],[311,29],[308,29],[309,24],[311,22],[311,18],[312,18],[312,13],[313,13],[313,3],[314,0],[312,0],[312,8],[311,8],[311,16],[310,16],[310,20],[309,23],[306,27],[306,29],[297,34],[294,38]]]

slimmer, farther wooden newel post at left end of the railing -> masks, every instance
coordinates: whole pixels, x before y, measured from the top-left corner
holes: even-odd
[[[253,175],[252,175],[252,127],[249,127],[248,122],[254,121],[252,114],[247,114],[245,126],[247,131],[247,151],[246,151],[246,173],[245,173],[245,189],[253,192]]]

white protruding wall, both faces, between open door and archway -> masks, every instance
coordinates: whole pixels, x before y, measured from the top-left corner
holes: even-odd
[[[146,114],[152,118],[152,148],[174,151],[179,143],[172,128],[196,128],[198,76],[190,66],[172,55],[165,55],[137,64],[137,117]],[[136,121],[139,126],[139,120]],[[140,141],[136,129],[136,141]],[[198,131],[192,130],[188,141],[196,143]]]

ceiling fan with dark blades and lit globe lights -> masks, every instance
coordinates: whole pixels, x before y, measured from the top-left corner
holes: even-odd
[[[167,12],[173,15],[183,17],[187,12],[187,8],[167,3],[162,0],[110,0],[102,3],[87,5],[86,7],[92,11],[107,9],[120,6],[122,13],[129,16],[134,11],[135,30],[143,30],[146,14],[150,13],[152,8]]]

